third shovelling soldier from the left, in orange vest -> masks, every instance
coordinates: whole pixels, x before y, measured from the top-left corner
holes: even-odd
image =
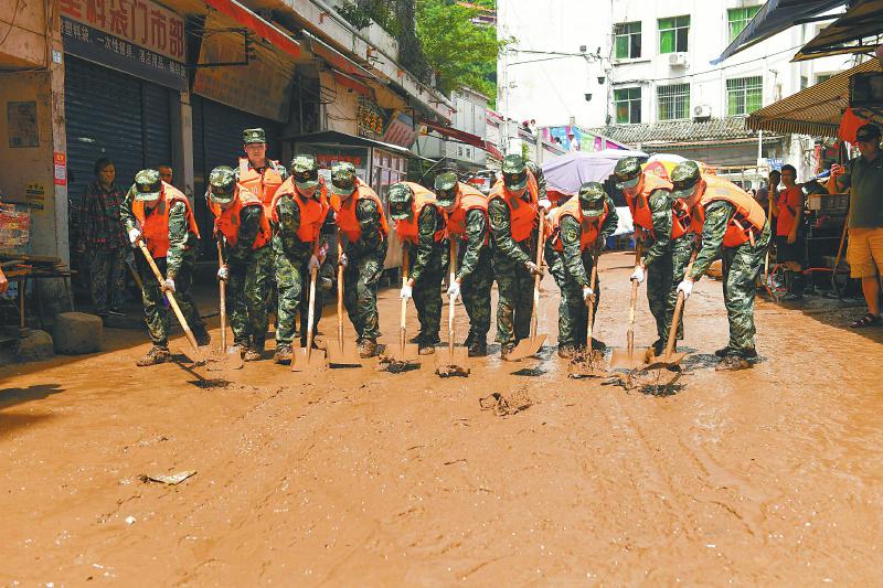
[[[329,204],[325,184],[319,178],[316,158],[298,156],[291,161],[291,178],[276,192],[273,201],[273,255],[278,310],[276,325],[276,363],[291,362],[291,340],[298,307],[309,304],[310,271],[325,260],[321,250],[313,253]],[[327,236],[326,236],[327,239]],[[327,250],[327,249],[326,249]],[[316,289],[313,327],[322,314],[322,289]],[[304,309],[301,308],[301,311]],[[307,346],[308,318],[301,312],[300,345]]]

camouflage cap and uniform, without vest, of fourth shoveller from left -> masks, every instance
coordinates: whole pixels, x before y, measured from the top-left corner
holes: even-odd
[[[340,197],[355,193],[360,180],[352,163],[338,163],[331,170],[331,191]],[[377,284],[383,275],[389,243],[381,232],[384,212],[370,199],[355,204],[355,218],[362,234],[357,242],[347,243],[347,267],[343,270],[343,304],[359,336],[360,353],[373,354],[380,336],[377,319]],[[370,348],[370,349],[369,349]]]

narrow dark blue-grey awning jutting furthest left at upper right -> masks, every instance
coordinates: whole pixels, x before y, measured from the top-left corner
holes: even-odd
[[[845,3],[847,0],[769,0],[745,30],[711,64],[717,65],[740,51],[790,29],[800,19],[821,14]]]

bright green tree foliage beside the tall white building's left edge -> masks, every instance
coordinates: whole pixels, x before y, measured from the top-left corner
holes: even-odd
[[[488,4],[492,7],[491,2]],[[477,9],[448,0],[416,0],[416,7],[417,36],[436,74],[438,89],[450,94],[468,86],[493,103],[497,55],[507,44],[497,41],[497,29],[474,24]]]

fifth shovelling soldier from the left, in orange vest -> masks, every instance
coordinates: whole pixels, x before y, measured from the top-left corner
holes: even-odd
[[[440,288],[449,255],[445,217],[436,205],[435,194],[419,184],[393,184],[389,196],[390,216],[408,249],[411,263],[408,280],[402,286],[400,298],[414,298],[421,332],[413,341],[417,343],[421,355],[428,355],[435,353],[435,345],[440,342]]]

